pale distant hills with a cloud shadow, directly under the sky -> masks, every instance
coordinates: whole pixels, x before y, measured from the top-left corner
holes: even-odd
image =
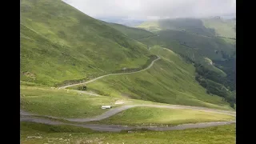
[[[208,37],[236,38],[235,23],[234,19],[222,18],[172,18],[142,22],[136,27],[150,31],[180,30]]]

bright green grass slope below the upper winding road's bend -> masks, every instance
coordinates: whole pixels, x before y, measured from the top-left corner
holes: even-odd
[[[157,46],[150,49],[162,59],[146,71],[113,75],[87,85],[87,90],[114,97],[128,97],[152,102],[188,106],[206,106],[230,110],[227,102],[206,90],[195,80],[195,68],[171,50]]]

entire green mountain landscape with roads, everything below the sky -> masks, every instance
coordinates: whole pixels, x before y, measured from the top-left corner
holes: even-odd
[[[22,0],[21,142],[235,142],[234,26],[176,18],[130,27],[61,0]]]

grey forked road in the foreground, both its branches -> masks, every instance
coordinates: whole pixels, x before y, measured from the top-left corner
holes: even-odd
[[[118,114],[119,112],[123,110],[130,109],[132,107],[136,106],[148,106],[148,107],[158,107],[158,108],[169,108],[169,109],[190,109],[190,110],[202,110],[206,112],[214,112],[218,114],[228,114],[232,116],[236,116],[236,113],[234,111],[228,111],[228,110],[214,110],[214,109],[208,109],[205,107],[198,107],[198,106],[179,106],[179,105],[173,105],[173,106],[158,106],[158,105],[127,105],[127,106],[120,106],[114,109],[111,109],[109,111],[106,111],[105,113],[98,115],[94,118],[58,118],[53,116],[46,116],[43,115],[43,117],[46,118],[54,118],[54,119],[64,119],[66,121],[70,122],[92,122],[92,121],[100,121],[105,118],[109,118],[110,116],[113,116],[114,114]],[[38,114],[30,114],[24,110],[20,110],[20,121],[21,122],[38,122],[38,123],[45,123],[49,125],[71,125],[71,126],[81,126],[90,128],[92,130],[99,130],[99,131],[121,131],[121,130],[132,130],[132,129],[148,129],[148,130],[184,130],[184,129],[191,129],[191,128],[203,128],[203,127],[209,127],[209,126],[220,126],[220,125],[226,125],[226,124],[232,124],[235,123],[235,121],[230,122],[202,122],[202,123],[195,123],[195,124],[183,124],[179,126],[170,126],[170,127],[159,127],[159,126],[119,126],[119,125],[94,125],[94,124],[70,124],[65,122],[58,122],[53,121],[46,118],[35,118],[31,116],[42,116]]]

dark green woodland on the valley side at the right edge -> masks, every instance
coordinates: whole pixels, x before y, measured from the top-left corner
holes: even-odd
[[[226,77],[222,77],[221,74],[209,70],[205,66],[195,64],[196,80],[206,88],[207,93],[221,96],[234,108],[234,103],[236,103],[235,53],[232,55],[225,54],[223,51],[221,53],[224,60],[215,60],[214,66],[223,70],[226,73]]]

